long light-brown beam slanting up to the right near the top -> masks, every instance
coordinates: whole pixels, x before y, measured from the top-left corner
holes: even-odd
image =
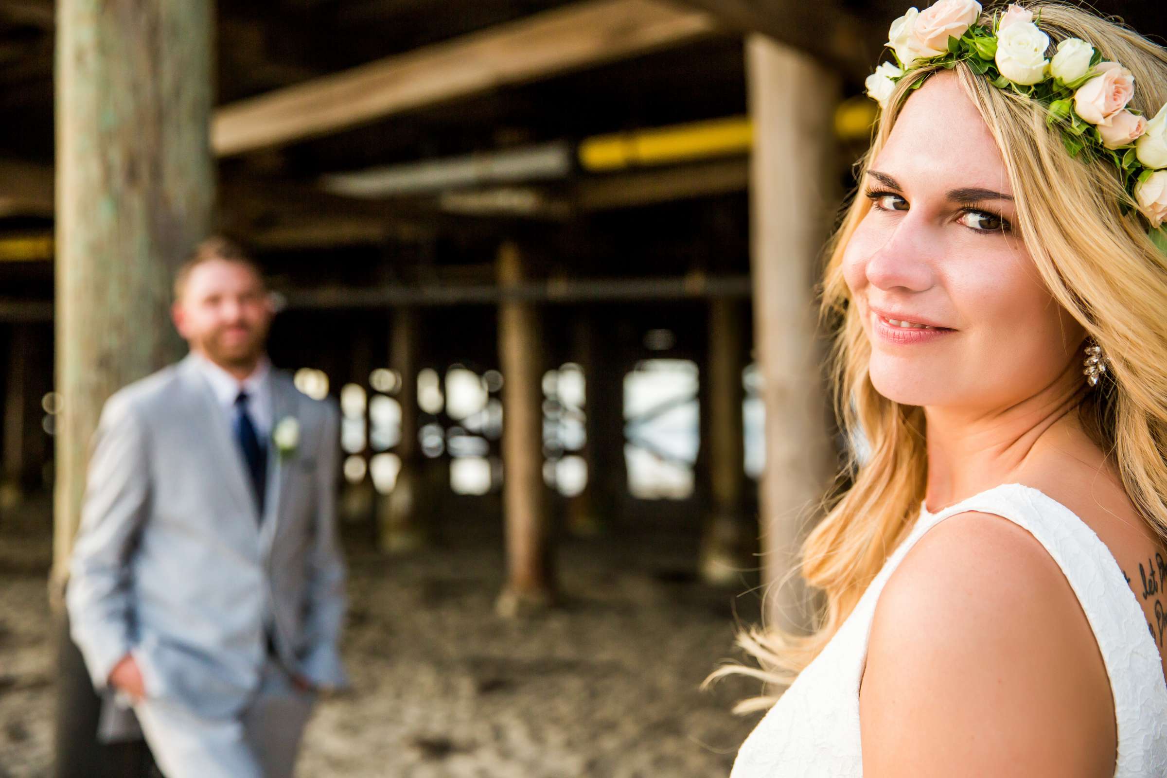
[[[221,107],[211,143],[223,156],[289,143],[713,30],[704,12],[589,0]]]

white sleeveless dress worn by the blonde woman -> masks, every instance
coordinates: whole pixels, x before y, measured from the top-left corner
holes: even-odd
[[[815,661],[742,743],[731,778],[859,778],[859,680],[875,601],[928,530],[964,511],[1006,518],[1029,531],[1062,568],[1090,622],[1114,696],[1116,778],[1167,776],[1167,685],[1159,650],[1123,570],[1085,523],[1022,484],[1002,484],[920,518]]]

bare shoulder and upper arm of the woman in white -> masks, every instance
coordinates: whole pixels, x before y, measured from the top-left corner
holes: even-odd
[[[1114,770],[1110,684],[1085,615],[1044,547],[988,513],[932,527],[888,580],[860,717],[874,778]]]

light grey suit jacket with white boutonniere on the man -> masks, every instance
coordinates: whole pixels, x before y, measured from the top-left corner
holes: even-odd
[[[265,615],[282,664],[347,684],[337,653],[344,563],[336,540],[340,414],[278,371],[266,512],[211,388],[187,357],[110,398],[93,439],[67,590],[95,686],[131,649],[147,694],[205,717],[236,715],[259,685]]]

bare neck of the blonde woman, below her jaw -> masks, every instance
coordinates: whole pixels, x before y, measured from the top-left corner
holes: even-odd
[[[925,504],[939,509],[1016,479],[1053,439],[1081,436],[1082,377],[1071,367],[1021,402],[1002,408],[925,406]]]

